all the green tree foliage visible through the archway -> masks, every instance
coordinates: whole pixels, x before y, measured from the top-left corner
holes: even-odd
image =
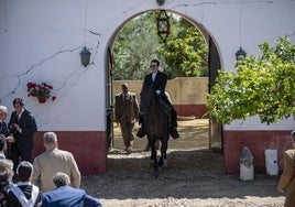
[[[150,73],[153,58],[161,61],[168,78],[207,76],[208,46],[199,31],[188,21],[167,13],[172,26],[164,44],[156,32],[157,14],[144,13],[122,28],[112,47],[113,79],[142,79]]]

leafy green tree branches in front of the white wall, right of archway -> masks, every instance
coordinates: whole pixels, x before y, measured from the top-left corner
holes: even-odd
[[[258,116],[273,123],[295,116],[295,45],[284,36],[276,46],[259,45],[261,57],[237,62],[237,72],[219,70],[208,95],[210,116],[222,123]]]

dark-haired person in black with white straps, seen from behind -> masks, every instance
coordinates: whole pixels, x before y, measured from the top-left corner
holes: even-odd
[[[31,183],[33,165],[23,161],[17,168],[20,182],[17,186],[9,189],[7,206],[8,207],[33,207],[41,206],[42,195],[39,187]]]

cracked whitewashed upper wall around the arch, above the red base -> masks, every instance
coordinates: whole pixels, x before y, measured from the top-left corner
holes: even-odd
[[[204,25],[216,41],[223,68],[233,67],[240,45],[259,55],[262,42],[285,34],[295,42],[292,0],[166,0],[161,8],[155,0],[0,0],[0,105],[12,111],[13,98],[22,97],[41,131],[105,131],[107,46],[125,21],[157,9]],[[79,62],[85,43],[92,62],[87,68]],[[53,85],[57,99],[37,103],[26,96],[28,81]],[[281,126],[292,129],[293,123]],[[255,126],[250,119],[226,129]]]

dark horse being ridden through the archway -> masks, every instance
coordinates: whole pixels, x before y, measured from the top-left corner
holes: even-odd
[[[152,85],[143,85],[140,96],[140,111],[143,113],[142,129],[151,146],[151,164],[154,166],[154,172],[159,173],[159,166],[167,166],[168,117],[159,100],[161,97],[154,94]],[[161,141],[161,156],[159,162],[156,154],[157,140]]]

